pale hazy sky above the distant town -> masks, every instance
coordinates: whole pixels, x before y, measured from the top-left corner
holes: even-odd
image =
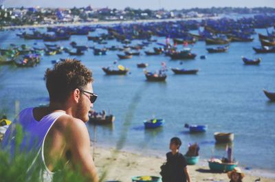
[[[273,7],[275,0],[0,0],[5,7],[83,7],[91,5],[95,8],[118,8],[127,6],[131,8],[150,8],[150,9],[182,9],[182,8],[210,8],[215,7]]]

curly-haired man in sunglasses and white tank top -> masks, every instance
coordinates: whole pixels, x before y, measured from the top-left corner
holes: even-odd
[[[74,170],[79,166],[89,181],[98,182],[85,125],[97,98],[91,85],[91,71],[78,60],[65,60],[47,69],[45,80],[49,106],[24,109],[14,122],[23,129],[21,146],[37,154],[34,165],[42,163],[42,181],[52,181],[54,172],[64,167],[59,161],[68,161]],[[5,133],[1,144],[4,149],[14,148],[14,124]]]

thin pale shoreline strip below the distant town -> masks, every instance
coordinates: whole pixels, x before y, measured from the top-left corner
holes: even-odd
[[[83,25],[114,25],[114,24],[129,24],[129,23],[157,23],[166,21],[188,21],[188,20],[202,20],[202,19],[219,19],[221,16],[206,16],[197,18],[182,18],[182,19],[147,19],[147,20],[129,20],[129,21],[91,21],[91,22],[74,22],[74,23],[54,23],[54,24],[38,24],[38,25],[15,25],[2,27],[3,30],[10,30],[13,28],[40,28],[40,27],[69,27],[69,26],[83,26]]]

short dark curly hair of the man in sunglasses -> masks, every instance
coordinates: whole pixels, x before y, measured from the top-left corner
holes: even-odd
[[[83,89],[93,82],[92,73],[79,60],[66,59],[45,71],[47,91],[51,102],[65,102],[74,89]]]

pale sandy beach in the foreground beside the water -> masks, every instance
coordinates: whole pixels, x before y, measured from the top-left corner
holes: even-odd
[[[162,157],[148,157],[133,152],[117,151],[113,148],[96,148],[94,161],[100,177],[105,175],[103,181],[131,181],[131,177],[140,175],[160,176],[160,166],[166,159]],[[192,181],[229,181],[226,173],[210,172],[207,163],[188,166]],[[243,181],[255,181],[261,177],[263,182],[275,181],[273,177],[267,178],[260,171],[245,171]]]

